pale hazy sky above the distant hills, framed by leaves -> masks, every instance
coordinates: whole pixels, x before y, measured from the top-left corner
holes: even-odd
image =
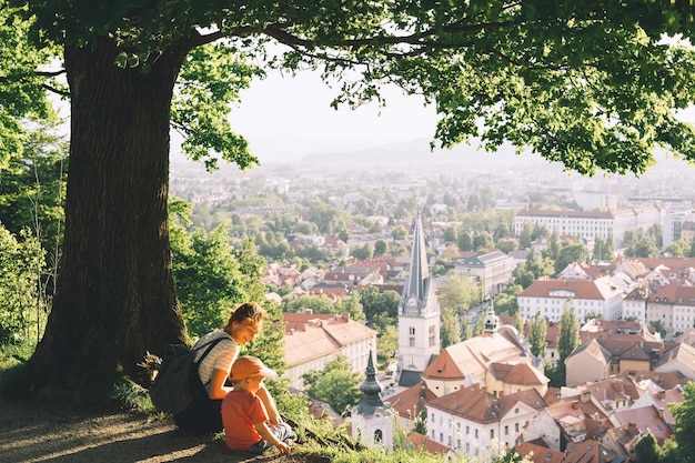
[[[336,94],[316,73],[294,78],[274,73],[242,92],[242,104],[234,108],[231,121],[261,161],[434,134],[434,109],[425,108],[422,98],[403,97],[393,88],[385,93],[385,108],[370,103],[354,111],[348,107],[336,111],[330,107]]]

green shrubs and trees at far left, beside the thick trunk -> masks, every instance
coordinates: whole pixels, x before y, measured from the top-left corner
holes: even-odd
[[[0,344],[24,358],[43,333],[61,253],[67,150],[32,124],[18,154],[0,168]]]

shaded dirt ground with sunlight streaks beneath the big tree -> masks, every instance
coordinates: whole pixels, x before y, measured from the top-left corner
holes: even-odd
[[[151,421],[127,413],[90,414],[61,406],[16,403],[0,395],[0,462],[319,463],[306,455],[274,452],[254,457],[226,449],[220,439],[180,432],[171,419]]]

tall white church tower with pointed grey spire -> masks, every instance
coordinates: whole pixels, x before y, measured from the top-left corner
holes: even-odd
[[[399,305],[399,368],[422,372],[440,353],[440,304],[427,265],[422,218],[415,219],[413,254]],[[402,376],[401,376],[402,378]]]

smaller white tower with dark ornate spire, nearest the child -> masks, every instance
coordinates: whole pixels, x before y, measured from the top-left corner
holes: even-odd
[[[352,436],[370,449],[393,450],[393,429],[395,415],[391,404],[382,402],[381,384],[375,378],[376,370],[372,362],[372,351],[366,365],[366,379],[360,386],[362,397],[351,410]]]

